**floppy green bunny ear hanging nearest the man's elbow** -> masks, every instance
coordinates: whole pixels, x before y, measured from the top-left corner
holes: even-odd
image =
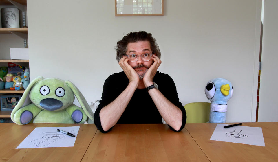
[[[92,112],[92,109],[88,105],[88,102],[86,101],[85,97],[82,95],[82,93],[79,91],[79,89],[69,80],[66,80],[65,83],[72,89],[74,95],[76,96],[81,108],[84,110],[85,114],[94,121],[94,113]]]

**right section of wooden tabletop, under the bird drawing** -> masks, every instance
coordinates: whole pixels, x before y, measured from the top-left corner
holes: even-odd
[[[185,125],[186,130],[210,161],[278,161],[278,122],[242,123],[241,126],[262,128],[265,147],[210,140],[216,125],[217,123]]]

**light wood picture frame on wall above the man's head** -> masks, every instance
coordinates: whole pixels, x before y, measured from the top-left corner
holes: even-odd
[[[163,16],[164,0],[115,0],[115,16]]]

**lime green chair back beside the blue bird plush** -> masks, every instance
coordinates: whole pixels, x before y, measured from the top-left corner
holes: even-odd
[[[186,123],[206,123],[209,121],[210,102],[192,102],[184,106]]]

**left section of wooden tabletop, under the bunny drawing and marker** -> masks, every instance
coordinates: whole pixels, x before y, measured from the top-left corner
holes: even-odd
[[[74,147],[25,148],[16,147],[36,127],[80,126]],[[95,133],[94,124],[0,124],[0,162],[1,161],[81,161]]]

